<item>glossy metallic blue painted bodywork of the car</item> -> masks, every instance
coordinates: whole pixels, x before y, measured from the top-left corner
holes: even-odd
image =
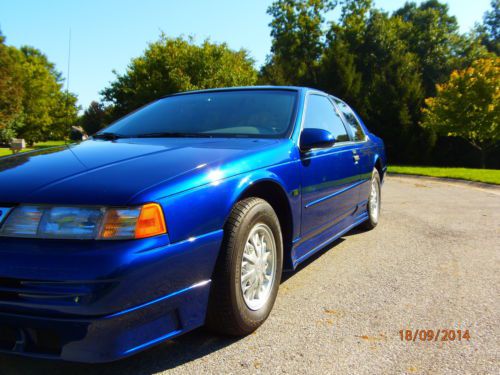
[[[0,351],[104,362],[203,325],[224,224],[257,185],[288,201],[293,267],[366,220],[383,142],[362,124],[365,142],[302,152],[305,98],[326,94],[287,89],[298,101],[286,139],[91,139],[0,159],[3,217],[21,203],[158,202],[168,227],[127,241],[0,237]]]

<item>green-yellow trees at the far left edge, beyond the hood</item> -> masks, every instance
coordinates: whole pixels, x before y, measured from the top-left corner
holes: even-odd
[[[0,33],[0,143],[14,137],[29,144],[67,137],[78,121],[76,102],[41,51],[7,46]]]

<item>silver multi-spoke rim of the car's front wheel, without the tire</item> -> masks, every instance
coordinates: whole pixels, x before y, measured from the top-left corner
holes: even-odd
[[[250,310],[261,309],[276,278],[276,242],[271,229],[256,224],[248,235],[241,260],[241,292]]]

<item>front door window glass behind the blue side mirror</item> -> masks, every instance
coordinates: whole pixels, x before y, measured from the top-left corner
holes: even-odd
[[[346,128],[330,100],[321,95],[309,95],[304,128],[325,129],[333,134],[336,142],[347,142]]]

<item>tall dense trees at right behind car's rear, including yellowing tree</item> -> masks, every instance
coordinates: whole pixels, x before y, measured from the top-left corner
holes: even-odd
[[[275,1],[261,80],[318,87],[345,99],[385,140],[391,162],[485,166],[486,153],[500,141],[500,1],[467,34],[438,0],[407,2],[392,14],[372,0],[345,0],[339,20],[326,23],[336,6]],[[467,69],[470,74],[460,73]],[[482,85],[472,83],[477,79]],[[488,165],[500,167],[497,160]]]

